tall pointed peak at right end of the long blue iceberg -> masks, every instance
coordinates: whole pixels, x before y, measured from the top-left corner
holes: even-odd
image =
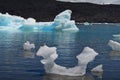
[[[56,25],[56,30],[79,30],[74,20],[71,19],[71,10],[65,10],[58,14],[54,19],[54,24]]]

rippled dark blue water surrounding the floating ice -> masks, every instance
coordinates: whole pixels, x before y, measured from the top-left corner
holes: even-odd
[[[108,41],[114,40],[112,35],[120,34],[120,25],[77,26],[79,32],[0,31],[0,80],[120,80],[120,54],[108,46]],[[36,49],[25,52],[23,44],[26,40],[34,43]],[[35,55],[44,43],[57,47],[59,57],[56,63],[65,67],[76,66],[76,56],[86,46],[93,48],[99,55],[88,64],[83,77],[46,75],[40,63],[42,57]],[[90,70],[99,64],[103,64],[104,72],[96,76]]]

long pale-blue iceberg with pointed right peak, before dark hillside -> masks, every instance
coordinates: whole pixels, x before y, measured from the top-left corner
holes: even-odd
[[[58,14],[52,22],[36,22],[34,18],[24,19],[20,16],[0,13],[0,30],[20,31],[78,31],[71,10]]]

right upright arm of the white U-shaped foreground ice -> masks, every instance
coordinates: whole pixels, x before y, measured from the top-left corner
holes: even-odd
[[[78,59],[78,66],[81,68],[83,74],[86,73],[87,64],[95,59],[98,53],[89,47],[85,47],[76,58]]]

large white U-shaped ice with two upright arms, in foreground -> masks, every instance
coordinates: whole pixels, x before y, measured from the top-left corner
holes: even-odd
[[[73,68],[66,68],[54,62],[58,57],[56,47],[48,47],[47,45],[41,46],[36,55],[44,58],[41,60],[41,63],[44,64],[46,73],[83,76],[86,73],[87,64],[93,61],[98,53],[89,47],[85,47],[82,53],[76,57],[78,59],[78,65]]]

